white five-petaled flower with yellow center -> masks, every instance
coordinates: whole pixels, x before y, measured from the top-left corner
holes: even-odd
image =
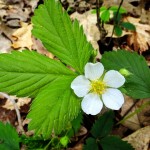
[[[118,110],[124,103],[123,94],[117,88],[125,83],[125,78],[118,71],[104,72],[101,63],[87,63],[85,76],[79,75],[72,83],[71,88],[78,97],[83,97],[82,110],[86,114],[98,114],[103,103],[107,108]]]

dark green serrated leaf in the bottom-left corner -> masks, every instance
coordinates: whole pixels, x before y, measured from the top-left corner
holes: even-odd
[[[8,123],[0,122],[0,149],[19,150],[19,137],[15,129]]]

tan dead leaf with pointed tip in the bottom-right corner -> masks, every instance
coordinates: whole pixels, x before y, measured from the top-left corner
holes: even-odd
[[[150,126],[141,128],[133,134],[123,138],[124,141],[128,141],[135,150],[148,150],[150,142]]]

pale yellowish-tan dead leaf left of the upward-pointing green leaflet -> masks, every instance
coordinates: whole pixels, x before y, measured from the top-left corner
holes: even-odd
[[[31,50],[31,47],[33,45],[32,42],[32,36],[31,36],[31,30],[32,30],[32,24],[20,22],[21,28],[16,30],[13,34],[13,48],[28,48]]]

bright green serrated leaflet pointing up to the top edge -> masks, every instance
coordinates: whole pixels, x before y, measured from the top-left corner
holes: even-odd
[[[92,46],[87,42],[83,28],[73,23],[59,1],[45,0],[32,18],[33,35],[39,38],[48,51],[81,74],[88,62]]]

